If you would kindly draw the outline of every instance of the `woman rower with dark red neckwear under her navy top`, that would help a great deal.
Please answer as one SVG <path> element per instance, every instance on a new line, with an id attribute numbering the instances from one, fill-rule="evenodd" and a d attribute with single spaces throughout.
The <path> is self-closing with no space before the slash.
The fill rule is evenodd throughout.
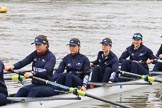
<path id="1" fill-rule="evenodd" d="M 32 62 L 32 71 L 26 72 L 24 76 L 26 78 L 36 76 L 51 81 L 56 58 L 48 49 L 49 43 L 47 36 L 37 36 L 32 44 L 35 44 L 35 51 L 14 65 L 5 66 L 5 70 L 20 69 Z M 54 89 L 55 88 L 51 85 L 46 85 L 44 82 L 32 79 L 32 84 L 20 88 L 15 97 L 53 96 L 56 93 Z"/>

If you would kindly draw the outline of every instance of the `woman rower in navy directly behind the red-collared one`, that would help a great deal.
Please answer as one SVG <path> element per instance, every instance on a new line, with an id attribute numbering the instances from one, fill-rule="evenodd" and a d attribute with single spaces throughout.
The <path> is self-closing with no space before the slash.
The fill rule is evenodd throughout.
<path id="1" fill-rule="evenodd" d="M 68 87 L 81 86 L 81 90 L 86 91 L 90 74 L 89 59 L 80 53 L 78 38 L 72 38 L 67 45 L 69 45 L 70 54 L 62 59 L 53 77 L 58 77 L 56 82 L 59 84 Z"/>

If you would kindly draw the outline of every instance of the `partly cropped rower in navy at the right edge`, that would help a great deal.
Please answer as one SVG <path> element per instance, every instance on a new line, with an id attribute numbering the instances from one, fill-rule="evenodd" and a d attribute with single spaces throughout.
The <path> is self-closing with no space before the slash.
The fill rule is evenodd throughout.
<path id="1" fill-rule="evenodd" d="M 161 36 L 161 38 L 162 38 L 162 36 Z M 162 44 L 161 44 L 159 50 L 157 51 L 156 57 L 159 58 L 159 59 L 162 59 Z M 157 60 L 155 65 L 154 65 L 153 71 L 162 71 L 162 62 L 159 62 Z"/>

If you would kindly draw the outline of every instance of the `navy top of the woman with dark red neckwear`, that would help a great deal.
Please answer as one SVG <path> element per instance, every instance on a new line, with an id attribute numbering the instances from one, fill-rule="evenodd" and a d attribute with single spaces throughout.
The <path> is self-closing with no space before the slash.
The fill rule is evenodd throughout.
<path id="1" fill-rule="evenodd" d="M 14 64 L 14 69 L 20 69 L 32 62 L 32 70 L 35 72 L 36 77 L 52 81 L 53 68 L 56 64 L 56 58 L 51 51 L 47 51 L 45 55 L 40 56 L 36 51 L 29 54 L 23 60 Z M 33 84 L 43 84 L 40 81 L 32 80 Z"/>

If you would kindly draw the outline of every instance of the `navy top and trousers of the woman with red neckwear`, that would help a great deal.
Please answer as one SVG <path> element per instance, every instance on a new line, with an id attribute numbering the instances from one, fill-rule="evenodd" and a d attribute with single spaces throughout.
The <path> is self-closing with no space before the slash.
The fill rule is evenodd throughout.
<path id="1" fill-rule="evenodd" d="M 52 81 L 53 68 L 56 58 L 49 50 L 44 55 L 38 55 L 36 51 L 32 52 L 25 59 L 14 64 L 14 69 L 20 69 L 32 62 L 34 76 Z M 54 87 L 46 85 L 44 82 L 32 79 L 32 84 L 19 89 L 16 97 L 46 97 L 55 95 Z"/>

